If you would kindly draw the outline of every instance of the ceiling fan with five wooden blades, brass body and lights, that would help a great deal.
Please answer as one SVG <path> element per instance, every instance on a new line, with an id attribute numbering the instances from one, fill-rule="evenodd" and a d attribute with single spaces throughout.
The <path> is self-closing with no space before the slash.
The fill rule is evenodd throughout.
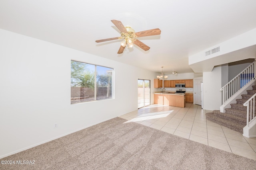
<path id="1" fill-rule="evenodd" d="M 96 40 L 96 43 L 104 42 L 104 41 L 111 41 L 115 39 L 123 39 L 121 42 L 121 46 L 118 50 L 118 54 L 123 53 L 124 48 L 128 45 L 128 48 L 133 47 L 133 44 L 138 45 L 138 47 L 142 48 L 143 50 L 147 51 L 150 49 L 146 44 L 142 43 L 140 40 L 136 39 L 137 37 L 146 37 L 150 35 L 160 35 L 161 30 L 159 28 L 150 29 L 147 31 L 140 31 L 136 32 L 130 26 L 124 27 L 121 21 L 118 20 L 111 20 L 114 25 L 121 31 L 121 37 L 114 37 L 108 39 L 100 39 Z"/>

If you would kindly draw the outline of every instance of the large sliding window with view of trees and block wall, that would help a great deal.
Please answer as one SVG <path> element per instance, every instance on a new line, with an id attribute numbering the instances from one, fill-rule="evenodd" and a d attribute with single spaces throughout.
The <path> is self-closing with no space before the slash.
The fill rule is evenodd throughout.
<path id="1" fill-rule="evenodd" d="M 113 68 L 71 61 L 71 104 L 112 99 Z"/>

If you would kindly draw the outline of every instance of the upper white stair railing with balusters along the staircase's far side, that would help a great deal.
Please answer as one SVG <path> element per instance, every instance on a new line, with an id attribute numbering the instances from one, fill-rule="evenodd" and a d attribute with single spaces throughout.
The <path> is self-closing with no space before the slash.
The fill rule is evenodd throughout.
<path id="1" fill-rule="evenodd" d="M 242 89 L 250 80 L 255 78 L 256 72 L 256 61 L 250 64 L 242 72 L 240 72 L 235 78 L 230 80 L 220 90 L 223 92 L 223 103 L 224 104 L 229 98 L 231 98 L 236 92 Z"/>

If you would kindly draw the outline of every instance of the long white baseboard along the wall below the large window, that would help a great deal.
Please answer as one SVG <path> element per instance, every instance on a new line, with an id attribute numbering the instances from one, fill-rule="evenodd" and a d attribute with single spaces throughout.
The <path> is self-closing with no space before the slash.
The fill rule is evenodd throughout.
<path id="1" fill-rule="evenodd" d="M 117 117 L 117 116 L 115 116 L 115 117 Z M 71 132 L 69 132 L 69 133 L 65 133 L 65 134 L 63 134 L 63 135 L 60 135 L 60 136 L 57 136 L 57 137 L 54 137 L 54 138 L 48 139 L 48 140 L 46 140 L 46 141 L 42 141 L 42 142 L 40 142 L 40 143 L 36 143 L 36 144 L 34 144 L 34 145 L 30 145 L 29 147 L 25 147 L 25 148 L 22 148 L 22 149 L 19 149 L 19 150 L 16 150 L 16 151 L 10 152 L 10 153 L 8 153 L 8 154 L 0 155 L 0 158 L 4 158 L 4 157 L 6 157 L 6 156 L 10 156 L 10 155 L 12 155 L 12 154 L 16 154 L 16 153 L 18 153 L 18 152 L 22 152 L 22 151 L 24 151 L 24 150 L 27 150 L 27 149 L 30 149 L 30 148 L 36 147 L 36 146 L 38 146 L 38 145 L 42 145 L 42 144 L 44 144 L 44 143 L 47 143 L 47 142 L 53 141 L 53 140 L 58 139 L 58 138 L 60 138 L 60 137 L 64 137 L 64 136 L 66 136 L 66 135 L 69 135 L 69 134 L 71 134 L 71 133 L 75 133 L 75 132 L 77 132 L 77 131 L 80 131 L 80 130 L 86 129 L 86 128 L 91 127 L 91 126 L 93 126 L 93 125 L 97 125 L 97 124 L 102 123 L 102 122 L 104 122 L 104 121 L 108 121 L 108 120 L 113 119 L 113 118 L 115 118 L 115 117 L 111 117 L 111 118 L 109 118 L 109 119 L 105 119 L 105 120 L 103 120 L 103 121 L 100 121 L 100 122 L 97 122 L 97 123 L 94 123 L 94 124 L 88 125 L 88 126 L 86 126 L 86 127 L 82 127 L 82 128 L 80 128 L 80 129 L 76 129 L 76 130 L 71 131 Z"/>

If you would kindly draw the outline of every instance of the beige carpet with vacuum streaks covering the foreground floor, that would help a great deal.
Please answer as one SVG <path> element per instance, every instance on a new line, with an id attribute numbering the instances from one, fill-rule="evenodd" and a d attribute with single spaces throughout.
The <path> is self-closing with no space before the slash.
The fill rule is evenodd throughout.
<path id="1" fill-rule="evenodd" d="M 4 170 L 252 170 L 256 161 L 116 117 L 1 160 Z"/>

